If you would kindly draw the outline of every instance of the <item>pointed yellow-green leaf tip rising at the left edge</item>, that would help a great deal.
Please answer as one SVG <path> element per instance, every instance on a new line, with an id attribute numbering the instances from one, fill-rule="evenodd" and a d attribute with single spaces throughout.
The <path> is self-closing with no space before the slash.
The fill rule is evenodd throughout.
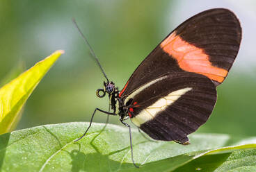
<path id="1" fill-rule="evenodd" d="M 54 52 L 0 88 L 0 134 L 14 128 L 27 98 L 63 52 Z"/>

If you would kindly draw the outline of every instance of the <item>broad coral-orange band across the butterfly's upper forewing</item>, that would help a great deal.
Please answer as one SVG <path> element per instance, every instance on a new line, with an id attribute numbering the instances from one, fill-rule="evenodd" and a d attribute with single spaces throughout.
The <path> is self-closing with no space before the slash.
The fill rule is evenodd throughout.
<path id="1" fill-rule="evenodd" d="M 179 67 L 185 71 L 202 74 L 219 83 L 222 83 L 227 76 L 227 70 L 211 65 L 209 56 L 203 49 L 182 40 L 179 35 L 176 35 L 176 32 L 163 40 L 160 46 L 163 51 L 172 55 L 177 60 Z"/>

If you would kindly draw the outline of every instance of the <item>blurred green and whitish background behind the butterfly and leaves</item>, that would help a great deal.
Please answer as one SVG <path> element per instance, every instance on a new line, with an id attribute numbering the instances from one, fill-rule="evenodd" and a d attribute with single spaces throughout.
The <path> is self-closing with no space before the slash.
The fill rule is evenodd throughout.
<path id="1" fill-rule="evenodd" d="M 223 7 L 239 17 L 243 40 L 227 80 L 218 87 L 214 112 L 197 132 L 255 135 L 255 6 L 253 0 L 1 0 L 1 85 L 56 49 L 65 50 L 29 98 L 17 129 L 89 121 L 95 107 L 108 108 L 107 98 L 95 95 L 104 77 L 90 58 L 72 17 L 106 74 L 122 89 L 146 55 L 177 25 L 202 10 Z M 106 115 L 95 115 L 95 122 L 105 120 Z M 111 117 L 111 123 L 119 123 L 118 117 Z"/>

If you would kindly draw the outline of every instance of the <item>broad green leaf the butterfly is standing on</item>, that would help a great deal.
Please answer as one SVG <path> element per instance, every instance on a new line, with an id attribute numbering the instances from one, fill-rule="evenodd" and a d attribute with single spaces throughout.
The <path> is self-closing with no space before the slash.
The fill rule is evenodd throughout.
<path id="1" fill-rule="evenodd" d="M 104 124 L 93 123 L 86 137 L 74 143 L 87 127 L 88 123 L 61 123 L 0 135 L 0 168 L 2 171 L 159 172 L 192 164 L 186 168 L 192 166 L 195 171 L 193 163 L 200 160 L 196 166 L 206 168 L 208 165 L 203 161 L 209 162 L 207 157 L 218 157 L 216 163 L 209 164 L 209 169 L 216 169 L 223 162 L 229 166 L 226 160 L 237 152 L 248 151 L 245 148 L 254 148 L 246 158 L 255 165 L 255 138 L 236 141 L 228 135 L 200 134 L 191 135 L 191 144 L 182 146 L 173 141 L 148 141 L 132 130 L 134 160 L 140 166 L 136 169 L 131 162 L 128 128 L 109 124 L 103 130 Z"/>

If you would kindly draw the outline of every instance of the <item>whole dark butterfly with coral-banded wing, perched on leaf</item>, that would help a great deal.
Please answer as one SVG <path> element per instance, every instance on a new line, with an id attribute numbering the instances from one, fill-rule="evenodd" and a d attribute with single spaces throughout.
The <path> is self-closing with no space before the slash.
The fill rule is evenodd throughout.
<path id="1" fill-rule="evenodd" d="M 147 55 L 121 91 L 106 77 L 90 48 L 106 78 L 97 96 L 109 94 L 113 110 L 95 112 L 118 115 L 130 133 L 125 119 L 152 139 L 189 144 L 187 135 L 202 126 L 214 109 L 216 87 L 232 67 L 240 42 L 241 26 L 233 12 L 223 8 L 200 12 Z"/>

